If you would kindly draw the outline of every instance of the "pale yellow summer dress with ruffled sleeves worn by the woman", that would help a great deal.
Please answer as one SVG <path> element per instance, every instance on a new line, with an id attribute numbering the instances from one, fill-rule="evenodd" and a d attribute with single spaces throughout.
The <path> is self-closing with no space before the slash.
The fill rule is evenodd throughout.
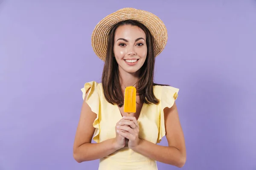
<path id="1" fill-rule="evenodd" d="M 97 118 L 93 122 L 95 133 L 93 140 L 97 143 L 115 138 L 116 122 L 122 119 L 117 105 L 107 102 L 103 94 L 102 83 L 87 82 L 81 89 L 83 99 L 88 92 L 86 102 Z M 143 104 L 138 118 L 139 138 L 157 144 L 165 136 L 163 109 L 171 108 L 177 99 L 179 89 L 170 86 L 154 86 L 154 95 L 160 100 L 158 105 Z M 157 170 L 155 160 L 149 159 L 128 147 L 100 159 L 99 170 Z"/>

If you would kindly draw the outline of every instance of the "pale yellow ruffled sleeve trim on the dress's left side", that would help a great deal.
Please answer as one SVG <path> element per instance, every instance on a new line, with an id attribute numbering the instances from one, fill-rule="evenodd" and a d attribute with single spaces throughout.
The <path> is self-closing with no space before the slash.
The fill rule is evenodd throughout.
<path id="1" fill-rule="evenodd" d="M 84 84 L 84 88 L 81 88 L 81 91 L 83 92 L 83 99 L 85 98 L 85 94 L 88 92 L 86 102 L 90 106 L 93 113 L 96 113 L 97 117 L 93 122 L 93 127 L 95 127 L 95 132 L 93 135 L 93 140 L 97 143 L 99 143 L 99 109 L 100 109 L 100 98 L 99 98 L 99 92 L 97 89 L 97 82 L 87 82 Z"/>

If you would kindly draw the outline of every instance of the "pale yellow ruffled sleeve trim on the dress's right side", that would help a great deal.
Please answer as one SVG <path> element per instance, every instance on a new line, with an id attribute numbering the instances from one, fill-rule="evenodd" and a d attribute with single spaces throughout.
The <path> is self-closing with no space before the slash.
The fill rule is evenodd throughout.
<path id="1" fill-rule="evenodd" d="M 163 86 L 162 95 L 161 95 L 161 104 L 160 104 L 161 113 L 160 113 L 160 125 L 159 125 L 157 143 L 160 143 L 163 136 L 166 135 L 163 110 L 166 107 L 171 108 L 174 105 L 174 102 L 178 97 L 178 92 L 179 92 L 178 88 L 174 88 L 171 86 Z"/>

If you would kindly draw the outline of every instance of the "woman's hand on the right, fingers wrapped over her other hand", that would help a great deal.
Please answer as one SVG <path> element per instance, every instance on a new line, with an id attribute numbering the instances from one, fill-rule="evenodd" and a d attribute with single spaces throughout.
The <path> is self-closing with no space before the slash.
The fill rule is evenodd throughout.
<path id="1" fill-rule="evenodd" d="M 124 116 L 123 119 L 124 120 L 120 122 L 120 126 L 117 128 L 120 130 L 125 130 L 125 132 L 118 131 L 117 133 L 129 139 L 128 147 L 133 149 L 140 143 L 139 124 L 134 116 Z"/>

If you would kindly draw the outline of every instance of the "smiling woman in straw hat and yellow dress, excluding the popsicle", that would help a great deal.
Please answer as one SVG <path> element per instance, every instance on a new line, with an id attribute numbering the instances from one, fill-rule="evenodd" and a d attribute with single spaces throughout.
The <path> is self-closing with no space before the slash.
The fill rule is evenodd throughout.
<path id="1" fill-rule="evenodd" d="M 178 89 L 153 82 L 155 57 L 166 41 L 163 22 L 134 8 L 120 9 L 95 27 L 93 50 L 105 65 L 102 82 L 88 82 L 81 89 L 76 161 L 100 159 L 99 170 L 157 170 L 156 161 L 183 167 L 186 148 L 175 104 Z M 123 111 L 127 86 L 137 88 L 137 111 L 131 116 Z M 169 146 L 158 145 L 165 135 Z"/>

